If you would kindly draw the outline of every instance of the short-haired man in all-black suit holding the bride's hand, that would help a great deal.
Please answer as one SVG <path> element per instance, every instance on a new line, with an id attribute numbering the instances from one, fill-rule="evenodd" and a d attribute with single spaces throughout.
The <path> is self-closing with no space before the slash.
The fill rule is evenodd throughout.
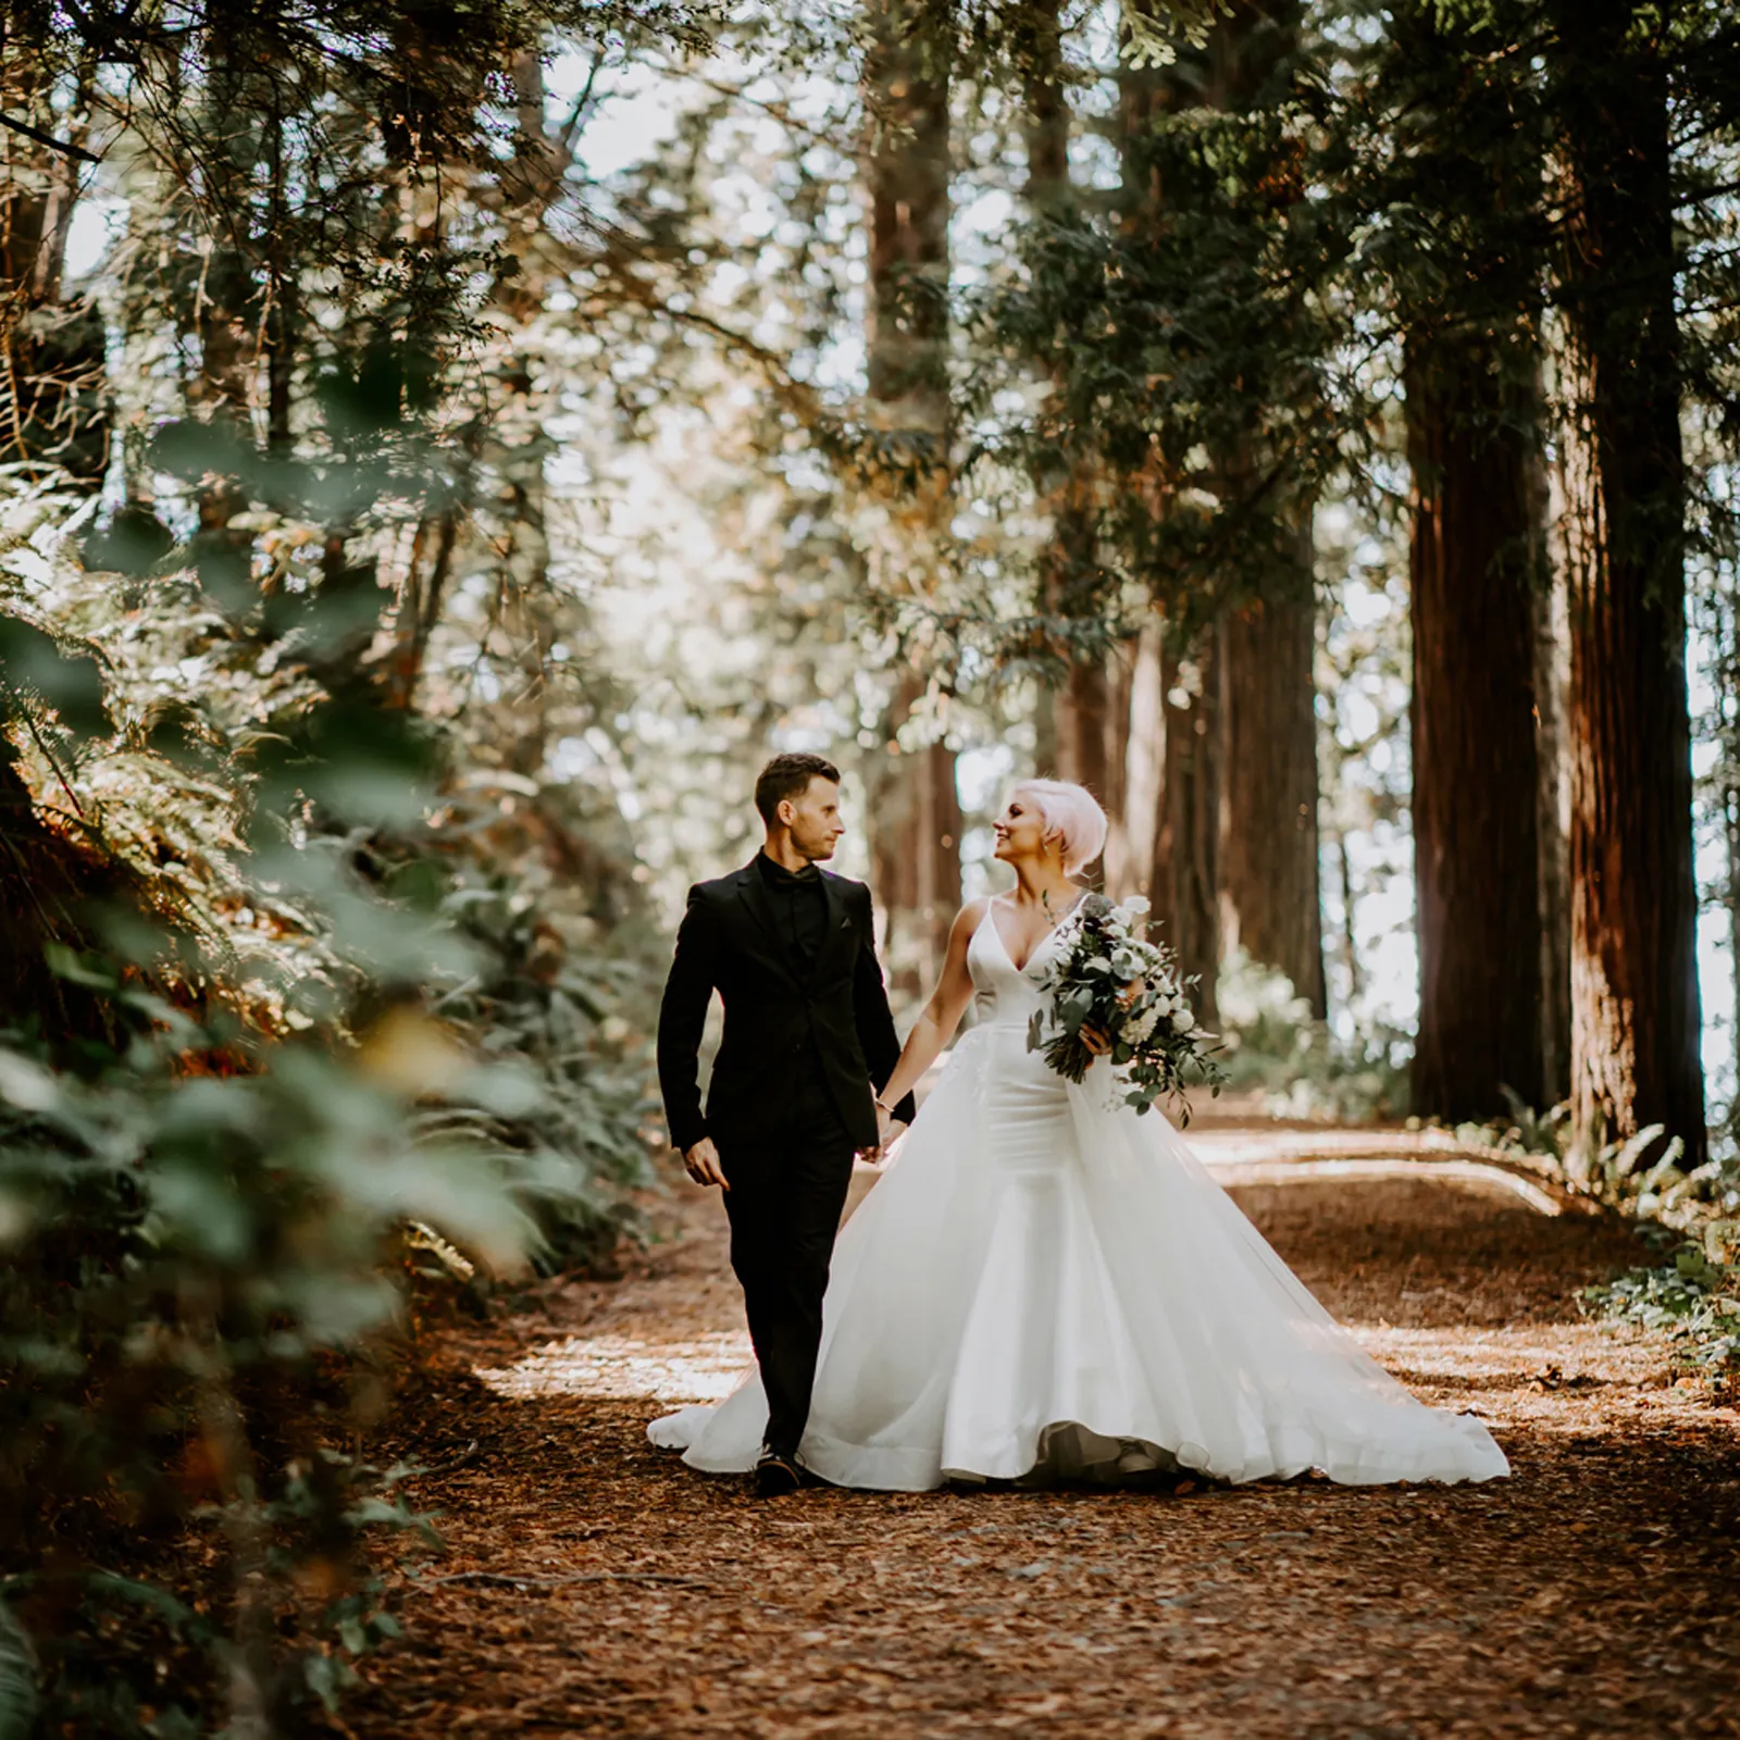
<path id="1" fill-rule="evenodd" d="M 900 1041 L 875 959 L 870 889 L 818 868 L 846 832 L 840 771 L 776 755 L 755 781 L 767 840 L 745 868 L 689 889 L 658 1018 L 670 1140 L 689 1176 L 719 1185 L 731 1267 L 767 1392 L 762 1496 L 802 1484 L 797 1446 L 821 1347 L 821 1296 L 853 1157 L 880 1148 Z M 701 1110 L 696 1079 L 713 992 L 726 1032 Z"/>

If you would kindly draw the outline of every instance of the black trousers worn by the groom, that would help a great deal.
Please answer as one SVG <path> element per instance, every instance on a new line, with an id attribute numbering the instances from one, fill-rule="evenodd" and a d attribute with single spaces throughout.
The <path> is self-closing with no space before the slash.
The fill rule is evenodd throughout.
<path id="1" fill-rule="evenodd" d="M 854 1145 L 820 1072 L 792 1105 L 783 1136 L 720 1150 L 731 1267 L 767 1392 L 767 1448 L 797 1455 L 821 1350 L 821 1296 L 853 1181 Z"/>

